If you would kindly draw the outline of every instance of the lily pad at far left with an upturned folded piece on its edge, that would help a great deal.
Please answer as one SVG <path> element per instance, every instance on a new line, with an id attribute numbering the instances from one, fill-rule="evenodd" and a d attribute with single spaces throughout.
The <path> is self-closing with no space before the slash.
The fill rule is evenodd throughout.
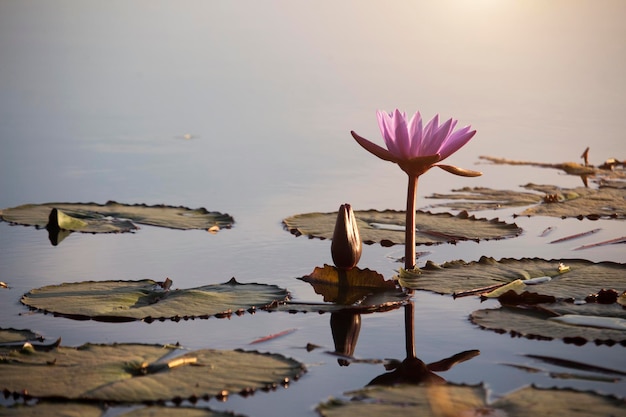
<path id="1" fill-rule="evenodd" d="M 54 211 L 54 213 L 53 213 Z M 57 213 L 59 213 L 57 215 Z M 171 229 L 230 228 L 234 219 L 228 214 L 165 205 L 96 203 L 24 204 L 0 210 L 0 219 L 25 226 L 45 228 L 51 222 L 62 230 L 84 233 L 119 233 L 137 229 L 137 224 Z M 217 227 L 217 229 L 216 229 Z"/>

